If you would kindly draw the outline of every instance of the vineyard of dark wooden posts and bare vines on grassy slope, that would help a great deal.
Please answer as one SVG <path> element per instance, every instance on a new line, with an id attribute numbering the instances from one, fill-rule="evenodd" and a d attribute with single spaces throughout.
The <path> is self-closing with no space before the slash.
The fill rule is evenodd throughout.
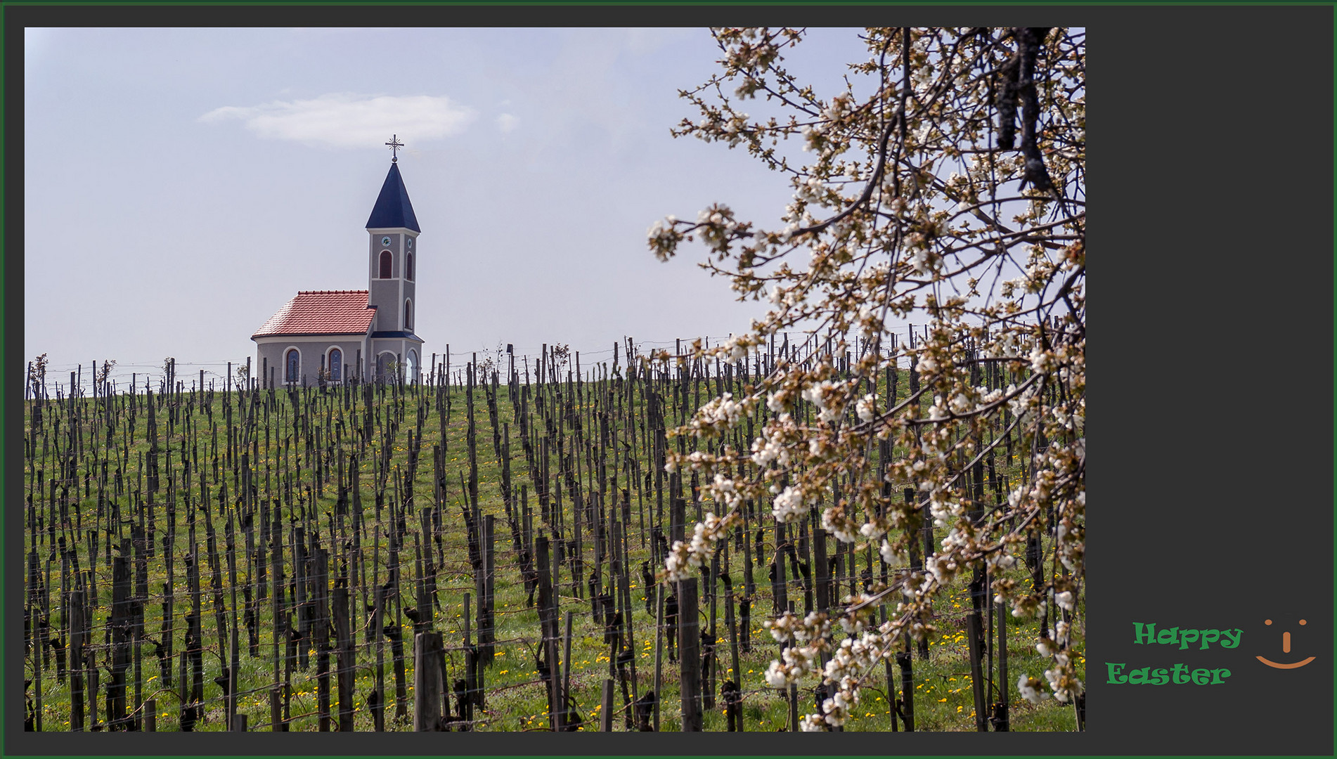
<path id="1" fill-rule="evenodd" d="M 664 461 L 698 445 L 747 450 L 771 413 L 723 438 L 674 434 L 707 401 L 814 361 L 850 377 L 876 350 L 828 346 L 779 335 L 726 362 L 685 346 L 651 359 L 626 341 L 592 366 L 562 346 L 463 367 L 447 354 L 421 385 L 263 386 L 233 370 L 206 382 L 170 362 L 130 388 L 83 369 L 56 385 L 29 365 L 27 727 L 797 730 L 829 694 L 818 679 L 767 684 L 786 645 L 769 620 L 921 572 L 947 530 L 927 494 L 885 478 L 884 494 L 925 513 L 905 565 L 822 529 L 824 504 L 785 522 L 749 500 L 713 560 L 670 583 L 670 547 L 725 509 Z M 931 404 L 913 363 L 894 366 L 864 392 Z M 1003 389 L 1025 366 L 976 355 L 969 371 Z M 816 410 L 798 400 L 793 413 Z M 1008 422 L 991 422 L 973 461 L 956 452 L 975 504 L 1004 505 L 1021 476 L 1029 444 Z M 884 469 L 904 456 L 885 440 L 866 454 Z M 825 497 L 864 485 L 837 480 Z M 1042 514 L 1032 526 L 1025 561 L 1005 572 L 1042 588 L 1067 569 L 1054 525 Z M 1032 703 L 1017 677 L 1044 667 L 1047 629 L 1066 623 L 1080 641 L 1082 599 L 1015 616 L 991 572 L 956 577 L 937 631 L 906 636 L 832 730 L 1080 730 L 1080 699 Z M 881 597 L 880 621 L 896 600 Z M 848 637 L 838 624 L 830 635 Z"/>

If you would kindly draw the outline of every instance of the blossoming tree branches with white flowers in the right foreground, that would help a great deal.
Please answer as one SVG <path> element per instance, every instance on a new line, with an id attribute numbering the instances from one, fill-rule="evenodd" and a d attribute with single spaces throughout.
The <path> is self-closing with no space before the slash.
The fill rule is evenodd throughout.
<path id="1" fill-rule="evenodd" d="M 820 335 L 828 350 L 781 361 L 742 397 L 711 400 L 675 432 L 694 450 L 670 453 L 666 468 L 707 477 L 723 513 L 674 543 L 663 577 L 709 565 L 749 500 L 769 502 L 778 524 L 810 516 L 840 541 L 876 548 L 890 568 L 885 583 L 865 584 L 838 613 L 771 621 L 787 647 L 769 684 L 818 677 L 828 688 L 821 710 L 804 718 L 806 730 L 842 724 L 877 664 L 935 633 L 935 599 L 957 576 L 980 592 L 988 577 L 993 603 L 1046 620 L 1036 649 L 1047 668 L 1020 673 L 1017 691 L 1032 702 L 1079 699 L 1084 33 L 868 29 L 866 55 L 829 94 L 786 68 L 804 31 L 714 36 L 722 68 L 682 92 L 699 118 L 674 134 L 746 150 L 789 182 L 793 200 L 778 229 L 741 220 L 722 203 L 695 220 L 667 216 L 651 226 L 650 249 L 666 261 L 685 242 L 703 243 L 705 269 L 731 278 L 739 298 L 769 303 L 749 333 L 698 342 L 695 355 L 737 359 L 792 330 Z M 927 325 L 923 341 L 893 337 L 906 323 Z M 837 371 L 856 339 L 872 349 Z M 897 401 L 878 378 L 902 358 L 919 382 Z M 1016 381 L 981 385 L 991 362 Z M 800 401 L 814 413 L 796 413 Z M 747 424 L 759 430 L 750 450 L 729 445 L 729 433 Z M 1020 452 L 1020 481 L 1001 502 L 985 502 L 963 474 L 1004 441 Z M 906 490 L 915 497 L 901 497 Z M 925 520 L 945 539 L 920 556 Z M 1031 559 L 1054 571 L 1025 587 L 1009 569 L 1042 540 L 1044 555 Z M 874 609 L 892 603 L 894 613 L 878 623 Z M 1064 619 L 1051 624 L 1054 607 Z M 846 633 L 838 643 L 836 623 Z"/>

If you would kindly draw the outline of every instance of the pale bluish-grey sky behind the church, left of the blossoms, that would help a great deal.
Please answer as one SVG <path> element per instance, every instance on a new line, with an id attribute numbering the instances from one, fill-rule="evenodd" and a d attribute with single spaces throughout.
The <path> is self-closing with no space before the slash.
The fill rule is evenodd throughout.
<path id="1" fill-rule="evenodd" d="M 743 331 L 646 229 L 726 202 L 762 226 L 790 187 L 721 143 L 674 139 L 679 88 L 718 57 L 706 29 L 28 29 L 27 358 L 214 375 L 298 290 L 366 287 L 364 224 L 390 166 L 422 227 L 424 358 L 499 342 L 607 358 Z M 820 95 L 854 31 L 796 51 Z M 603 353 L 600 353 L 603 351 Z M 586 361 L 583 359 L 583 363 Z M 185 367 L 190 369 L 185 369 Z M 66 377 L 68 377 L 66 374 Z"/>

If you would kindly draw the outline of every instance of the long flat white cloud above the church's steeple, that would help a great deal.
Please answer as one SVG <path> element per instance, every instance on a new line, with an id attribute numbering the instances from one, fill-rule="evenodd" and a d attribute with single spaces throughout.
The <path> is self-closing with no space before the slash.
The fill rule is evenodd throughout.
<path id="1" fill-rule="evenodd" d="M 404 142 L 444 138 L 464 131 L 475 111 L 441 95 L 394 98 L 332 92 L 312 100 L 275 100 L 262 106 L 223 106 L 201 122 L 241 119 L 266 139 L 297 140 L 326 147 L 366 147 L 386 134 Z"/>

